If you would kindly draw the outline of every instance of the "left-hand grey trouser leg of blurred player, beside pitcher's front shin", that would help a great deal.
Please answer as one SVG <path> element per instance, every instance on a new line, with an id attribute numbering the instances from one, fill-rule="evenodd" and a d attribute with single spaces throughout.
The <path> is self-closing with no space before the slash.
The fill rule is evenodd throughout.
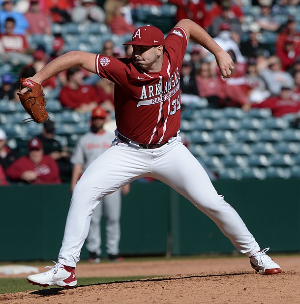
<path id="1" fill-rule="evenodd" d="M 90 219 L 90 230 L 86 240 L 86 247 L 90 252 L 95 252 L 97 256 L 101 254 L 101 216 L 103 210 L 103 197 L 96 206 Z"/>

